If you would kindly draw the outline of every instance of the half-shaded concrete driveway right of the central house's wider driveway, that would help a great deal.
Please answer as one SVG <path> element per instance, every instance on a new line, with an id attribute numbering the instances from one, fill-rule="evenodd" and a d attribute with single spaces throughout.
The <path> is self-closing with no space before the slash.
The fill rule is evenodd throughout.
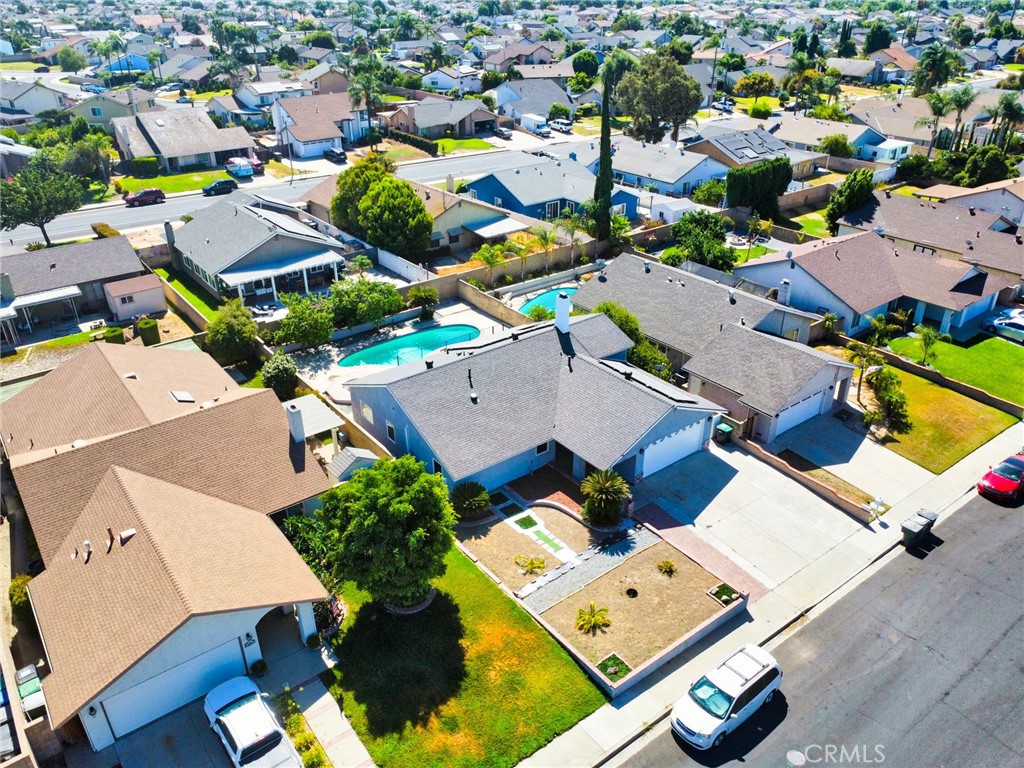
<path id="1" fill-rule="evenodd" d="M 935 477 L 830 415 L 791 429 L 768 446 L 774 454 L 786 447 L 890 506 Z"/>

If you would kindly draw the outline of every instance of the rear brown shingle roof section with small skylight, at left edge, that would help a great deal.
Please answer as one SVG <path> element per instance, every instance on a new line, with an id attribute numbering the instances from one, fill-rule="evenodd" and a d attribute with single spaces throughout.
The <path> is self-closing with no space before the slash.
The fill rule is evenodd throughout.
<path id="1" fill-rule="evenodd" d="M 135 378 L 126 378 L 134 374 Z M 178 402 L 183 390 L 195 402 Z M 0 409 L 0 440 L 14 463 L 42 450 L 67 449 L 196 411 L 214 397 L 243 394 L 207 354 L 90 344 Z"/>

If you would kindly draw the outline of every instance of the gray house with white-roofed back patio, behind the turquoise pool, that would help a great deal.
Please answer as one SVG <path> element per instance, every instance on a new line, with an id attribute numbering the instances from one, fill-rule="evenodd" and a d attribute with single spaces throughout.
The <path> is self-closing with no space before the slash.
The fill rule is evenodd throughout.
<path id="1" fill-rule="evenodd" d="M 344 274 L 346 258 L 364 250 L 321 234 L 299 213 L 232 193 L 169 232 L 172 259 L 212 295 L 249 303 L 327 288 Z"/>

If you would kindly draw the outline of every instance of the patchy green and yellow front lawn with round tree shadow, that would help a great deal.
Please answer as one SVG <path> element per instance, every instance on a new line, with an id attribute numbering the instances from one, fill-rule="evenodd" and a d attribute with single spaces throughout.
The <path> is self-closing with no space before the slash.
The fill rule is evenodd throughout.
<path id="1" fill-rule="evenodd" d="M 346 585 L 325 683 L 380 766 L 516 765 L 604 703 L 529 615 L 454 549 L 429 608 L 394 616 Z M 354 614 L 354 615 L 353 615 Z"/>

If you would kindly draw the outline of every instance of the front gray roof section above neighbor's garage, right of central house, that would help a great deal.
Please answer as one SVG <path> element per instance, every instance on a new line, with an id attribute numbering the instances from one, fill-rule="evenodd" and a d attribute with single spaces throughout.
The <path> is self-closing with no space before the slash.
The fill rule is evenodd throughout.
<path id="1" fill-rule="evenodd" d="M 825 367 L 853 366 L 830 354 L 741 326 L 726 326 L 683 368 L 774 416 Z"/>

